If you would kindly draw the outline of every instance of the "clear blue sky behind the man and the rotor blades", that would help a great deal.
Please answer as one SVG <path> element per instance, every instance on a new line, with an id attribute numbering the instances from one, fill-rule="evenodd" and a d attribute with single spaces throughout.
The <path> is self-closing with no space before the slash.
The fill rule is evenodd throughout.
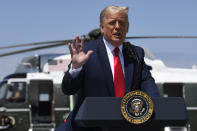
<path id="1" fill-rule="evenodd" d="M 0 46 L 72 39 L 99 27 L 100 11 L 128 6 L 128 36 L 197 35 L 196 0 L 1 0 Z M 132 40 L 169 66 L 197 64 L 197 39 Z M 21 49 L 21 48 L 19 48 Z M 0 50 L 5 53 L 12 50 Z M 0 58 L 0 79 L 14 72 L 24 56 L 65 52 L 64 47 Z M 180 56 L 182 55 L 182 56 Z"/>

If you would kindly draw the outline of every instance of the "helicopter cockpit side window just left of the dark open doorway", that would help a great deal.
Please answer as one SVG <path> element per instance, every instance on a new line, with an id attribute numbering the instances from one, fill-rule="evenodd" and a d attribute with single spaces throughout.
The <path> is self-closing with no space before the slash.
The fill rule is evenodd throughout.
<path id="1" fill-rule="evenodd" d="M 6 100 L 8 102 L 25 102 L 25 96 L 25 82 L 13 82 L 8 85 L 8 92 L 6 94 Z"/>

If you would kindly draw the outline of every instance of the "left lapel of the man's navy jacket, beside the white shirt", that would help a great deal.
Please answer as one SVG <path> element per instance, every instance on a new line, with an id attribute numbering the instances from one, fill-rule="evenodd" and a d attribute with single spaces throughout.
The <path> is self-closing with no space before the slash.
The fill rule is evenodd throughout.
<path id="1" fill-rule="evenodd" d="M 97 46 L 97 54 L 99 61 L 101 63 L 101 68 L 103 70 L 103 77 L 105 77 L 105 82 L 107 84 L 107 88 L 109 90 L 110 96 L 114 96 L 114 82 L 113 82 L 113 76 L 112 71 L 109 63 L 109 58 L 107 55 L 107 50 L 104 45 L 104 42 L 102 40 L 102 37 L 100 39 L 100 42 Z"/>

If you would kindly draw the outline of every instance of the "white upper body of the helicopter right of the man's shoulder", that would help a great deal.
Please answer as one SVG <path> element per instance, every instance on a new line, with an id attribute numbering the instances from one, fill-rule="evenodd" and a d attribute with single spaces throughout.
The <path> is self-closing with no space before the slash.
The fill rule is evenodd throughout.
<path id="1" fill-rule="evenodd" d="M 156 83 L 197 83 L 197 69 L 170 68 L 161 60 L 145 58 Z"/>

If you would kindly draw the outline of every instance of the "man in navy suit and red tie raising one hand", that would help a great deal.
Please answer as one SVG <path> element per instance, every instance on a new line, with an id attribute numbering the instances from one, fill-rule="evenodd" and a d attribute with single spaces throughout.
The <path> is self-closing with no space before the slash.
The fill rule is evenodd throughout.
<path id="1" fill-rule="evenodd" d="M 109 6 L 100 14 L 101 37 L 84 44 L 84 37 L 79 42 L 77 36 L 69 44 L 72 62 L 62 90 L 67 95 L 77 93 L 77 99 L 64 125 L 66 131 L 82 130 L 73 120 L 85 97 L 123 97 L 135 89 L 159 96 L 143 49 L 124 42 L 128 29 L 128 7 Z"/>

